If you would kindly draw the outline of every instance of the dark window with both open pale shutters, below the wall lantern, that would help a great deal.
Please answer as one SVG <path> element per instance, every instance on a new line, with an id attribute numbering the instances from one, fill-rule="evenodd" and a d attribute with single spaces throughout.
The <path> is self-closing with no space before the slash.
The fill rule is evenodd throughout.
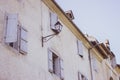
<path id="1" fill-rule="evenodd" d="M 54 52 L 48 50 L 48 68 L 49 72 L 56 74 L 61 79 L 64 79 L 63 75 L 63 60 L 60 59 Z"/>

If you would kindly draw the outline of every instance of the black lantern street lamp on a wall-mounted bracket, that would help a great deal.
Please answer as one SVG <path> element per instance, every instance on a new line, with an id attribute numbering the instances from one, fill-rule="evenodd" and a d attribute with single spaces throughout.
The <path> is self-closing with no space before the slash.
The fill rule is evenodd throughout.
<path id="1" fill-rule="evenodd" d="M 63 27 L 62 24 L 59 21 L 57 21 L 54 27 L 52 28 L 52 30 L 54 31 L 54 34 L 50 34 L 44 37 L 42 36 L 42 47 L 44 42 L 47 42 L 48 40 L 53 38 L 55 35 L 59 34 L 62 30 L 62 27 Z"/>

